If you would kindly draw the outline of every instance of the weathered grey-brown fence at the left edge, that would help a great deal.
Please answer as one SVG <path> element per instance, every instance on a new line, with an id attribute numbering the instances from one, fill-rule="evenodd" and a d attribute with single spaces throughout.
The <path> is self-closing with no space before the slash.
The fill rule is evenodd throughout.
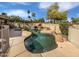
<path id="1" fill-rule="evenodd" d="M 9 48 L 9 26 L 3 25 L 0 29 L 0 52 L 5 52 Z"/>

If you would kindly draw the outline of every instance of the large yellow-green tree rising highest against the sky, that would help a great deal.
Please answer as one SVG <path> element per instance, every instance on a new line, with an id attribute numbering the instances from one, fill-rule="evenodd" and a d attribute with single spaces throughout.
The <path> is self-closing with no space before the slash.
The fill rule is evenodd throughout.
<path id="1" fill-rule="evenodd" d="M 60 12 L 58 9 L 59 9 L 59 6 L 57 3 L 55 3 L 54 5 L 51 5 L 48 8 L 47 17 L 51 21 L 53 20 L 54 23 L 59 20 L 66 20 L 67 19 L 67 11 Z"/>

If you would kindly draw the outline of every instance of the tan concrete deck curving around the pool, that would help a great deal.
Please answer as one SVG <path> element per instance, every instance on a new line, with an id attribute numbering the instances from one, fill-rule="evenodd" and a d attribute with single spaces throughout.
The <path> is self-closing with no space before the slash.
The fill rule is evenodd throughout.
<path id="1" fill-rule="evenodd" d="M 66 57 L 79 56 L 79 48 L 70 42 L 57 42 L 58 47 L 49 52 L 33 54 L 25 49 L 24 39 L 31 35 L 28 31 L 23 31 L 22 36 L 10 38 L 10 49 L 8 57 Z"/>

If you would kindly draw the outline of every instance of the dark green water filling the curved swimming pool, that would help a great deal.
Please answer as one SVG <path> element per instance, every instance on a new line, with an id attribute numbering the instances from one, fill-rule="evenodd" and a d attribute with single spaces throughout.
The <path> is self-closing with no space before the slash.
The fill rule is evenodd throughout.
<path id="1" fill-rule="evenodd" d="M 33 53 L 47 52 L 57 47 L 55 37 L 51 34 L 40 33 L 40 30 L 31 30 L 32 35 L 25 39 L 25 47 Z"/>

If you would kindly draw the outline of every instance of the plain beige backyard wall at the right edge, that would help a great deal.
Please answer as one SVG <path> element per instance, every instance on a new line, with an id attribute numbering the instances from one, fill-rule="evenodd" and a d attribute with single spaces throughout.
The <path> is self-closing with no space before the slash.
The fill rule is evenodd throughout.
<path id="1" fill-rule="evenodd" d="M 78 27 L 69 27 L 69 36 L 68 40 L 79 47 L 79 28 Z"/>

